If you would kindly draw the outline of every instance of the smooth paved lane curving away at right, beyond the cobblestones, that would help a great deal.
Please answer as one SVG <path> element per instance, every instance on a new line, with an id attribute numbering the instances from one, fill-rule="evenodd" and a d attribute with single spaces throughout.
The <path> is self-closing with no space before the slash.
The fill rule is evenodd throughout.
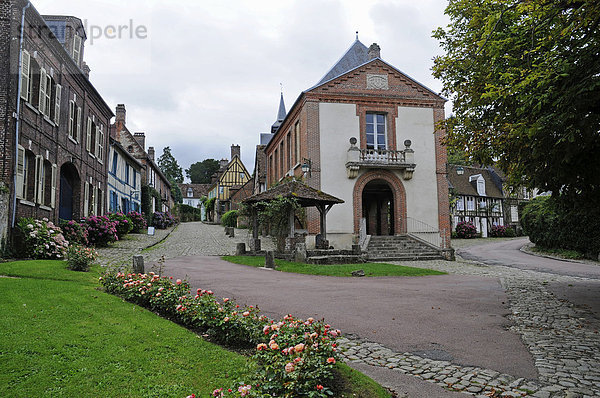
<path id="1" fill-rule="evenodd" d="M 464 259 L 489 265 L 504 265 L 554 275 L 600 279 L 599 265 L 533 256 L 519 250 L 528 243 L 529 238 L 521 238 L 465 247 L 459 249 L 457 253 Z"/>

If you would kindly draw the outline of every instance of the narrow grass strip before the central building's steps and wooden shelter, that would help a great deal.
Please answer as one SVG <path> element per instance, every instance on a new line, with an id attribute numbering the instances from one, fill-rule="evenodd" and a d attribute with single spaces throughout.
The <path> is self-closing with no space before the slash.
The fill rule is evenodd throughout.
<path id="1" fill-rule="evenodd" d="M 252 267 L 265 266 L 265 258 L 261 256 L 223 256 L 222 259 L 231 263 L 250 265 Z M 445 274 L 445 272 L 425 268 L 383 263 L 315 265 L 276 259 L 275 266 L 278 271 L 283 272 L 326 276 L 352 276 L 352 271 L 359 269 L 365 271 L 365 276 L 425 276 Z"/>

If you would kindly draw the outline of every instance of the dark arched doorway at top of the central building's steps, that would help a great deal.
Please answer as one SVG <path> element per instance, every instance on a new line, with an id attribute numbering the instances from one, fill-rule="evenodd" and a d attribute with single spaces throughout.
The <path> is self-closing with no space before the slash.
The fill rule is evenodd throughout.
<path id="1" fill-rule="evenodd" d="M 386 181 L 373 180 L 365 185 L 362 206 L 368 235 L 394 235 L 394 193 Z"/>

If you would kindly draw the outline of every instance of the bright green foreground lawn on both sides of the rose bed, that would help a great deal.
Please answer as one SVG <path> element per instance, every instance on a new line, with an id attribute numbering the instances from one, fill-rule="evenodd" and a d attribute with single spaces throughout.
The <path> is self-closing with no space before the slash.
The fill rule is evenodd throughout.
<path id="1" fill-rule="evenodd" d="M 1 397 L 208 396 L 247 375 L 246 357 L 98 290 L 98 274 L 62 261 L 0 264 L 15 277 L 0 277 Z M 390 396 L 339 369 L 340 396 Z"/>

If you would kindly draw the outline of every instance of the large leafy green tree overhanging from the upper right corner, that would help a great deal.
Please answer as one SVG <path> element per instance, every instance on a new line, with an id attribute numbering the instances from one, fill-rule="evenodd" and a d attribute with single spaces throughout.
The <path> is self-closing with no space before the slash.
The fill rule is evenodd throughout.
<path id="1" fill-rule="evenodd" d="M 512 185 L 600 196 L 600 2 L 454 0 L 434 32 L 447 143 Z"/>

